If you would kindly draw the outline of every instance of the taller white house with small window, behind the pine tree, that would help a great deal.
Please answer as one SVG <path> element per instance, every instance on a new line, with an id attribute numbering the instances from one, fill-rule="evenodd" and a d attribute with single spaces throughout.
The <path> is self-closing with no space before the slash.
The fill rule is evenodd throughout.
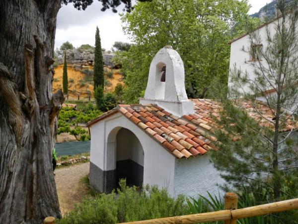
<path id="1" fill-rule="evenodd" d="M 272 66 L 271 68 L 269 68 L 268 63 L 262 57 L 262 54 L 258 53 L 258 51 L 259 50 L 263 52 L 267 51 L 268 34 L 271 38 L 275 38 L 274 35 L 276 34 L 278 24 L 281 24 L 282 22 L 281 20 L 282 20 L 282 17 L 277 16 L 276 18 L 256 28 L 252 32 L 252 37 L 248 33 L 246 33 L 229 42 L 230 43 L 230 62 L 229 62 L 230 74 L 228 79 L 229 87 L 232 87 L 234 85 L 234 83 L 231 81 L 231 73 L 232 71 L 234 71 L 234 68 L 240 69 L 242 72 L 246 72 L 250 80 L 254 80 L 256 78 L 255 71 L 254 71 L 256 66 L 258 68 L 260 67 L 265 68 L 264 69 L 265 73 L 266 73 L 266 69 L 269 69 L 269 70 L 272 69 Z M 286 25 L 289 26 L 289 24 L 290 24 L 290 19 L 287 16 Z M 298 24 L 296 24 L 296 29 L 298 30 Z M 259 69 L 257 70 L 260 71 Z M 269 83 L 267 82 L 267 86 L 263 88 L 262 94 L 264 96 L 263 97 L 257 96 L 258 100 L 261 100 L 267 103 L 266 98 L 268 99 L 269 96 L 275 96 L 275 90 L 273 87 L 275 88 L 277 87 L 273 78 L 270 80 L 270 83 L 271 84 L 269 85 Z M 242 93 L 251 92 L 248 84 L 246 85 L 242 84 L 241 87 L 237 86 L 237 89 Z M 296 99 L 297 100 L 295 101 L 298 102 L 298 97 L 296 97 Z M 297 111 L 297 106 L 298 104 L 296 103 L 295 105 L 292 105 L 291 107 L 286 109 L 288 109 L 291 112 L 295 112 Z"/>

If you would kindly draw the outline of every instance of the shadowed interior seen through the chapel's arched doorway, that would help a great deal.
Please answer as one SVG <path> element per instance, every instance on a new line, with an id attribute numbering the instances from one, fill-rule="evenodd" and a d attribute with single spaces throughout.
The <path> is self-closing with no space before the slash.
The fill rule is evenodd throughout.
<path id="1" fill-rule="evenodd" d="M 129 129 L 120 128 L 116 135 L 115 185 L 126 179 L 128 186 L 141 187 L 144 179 L 144 150 L 138 137 Z"/>

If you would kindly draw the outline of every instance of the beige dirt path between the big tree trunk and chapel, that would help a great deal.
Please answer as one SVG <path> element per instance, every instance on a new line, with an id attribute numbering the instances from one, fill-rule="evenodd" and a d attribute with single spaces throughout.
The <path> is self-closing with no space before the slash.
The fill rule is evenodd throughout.
<path id="1" fill-rule="evenodd" d="M 89 174 L 89 162 L 56 169 L 55 174 L 60 209 L 64 215 L 88 193 L 88 188 L 80 179 Z"/>

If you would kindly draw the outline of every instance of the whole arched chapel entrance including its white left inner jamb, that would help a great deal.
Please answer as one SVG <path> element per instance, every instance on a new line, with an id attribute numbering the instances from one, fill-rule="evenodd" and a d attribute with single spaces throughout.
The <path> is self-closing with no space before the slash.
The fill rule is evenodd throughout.
<path id="1" fill-rule="evenodd" d="M 107 137 L 105 155 L 106 169 L 114 170 L 114 174 L 106 180 L 108 186 L 112 189 L 118 187 L 119 179 L 122 178 L 126 178 L 129 186 L 142 186 L 144 149 L 131 130 L 120 126 L 113 128 Z"/>

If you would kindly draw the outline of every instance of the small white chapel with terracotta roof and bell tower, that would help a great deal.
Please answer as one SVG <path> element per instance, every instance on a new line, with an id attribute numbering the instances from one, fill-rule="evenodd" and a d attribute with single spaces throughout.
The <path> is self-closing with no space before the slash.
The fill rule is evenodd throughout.
<path id="1" fill-rule="evenodd" d="M 89 122 L 90 185 L 111 192 L 126 178 L 129 185 L 166 188 L 173 197 L 218 195 L 224 180 L 209 151 L 217 140 L 212 117 L 221 108 L 211 100 L 187 99 L 183 62 L 171 47 L 162 48 L 151 62 L 140 104 L 119 105 Z M 257 119 L 257 112 L 250 114 Z"/>

